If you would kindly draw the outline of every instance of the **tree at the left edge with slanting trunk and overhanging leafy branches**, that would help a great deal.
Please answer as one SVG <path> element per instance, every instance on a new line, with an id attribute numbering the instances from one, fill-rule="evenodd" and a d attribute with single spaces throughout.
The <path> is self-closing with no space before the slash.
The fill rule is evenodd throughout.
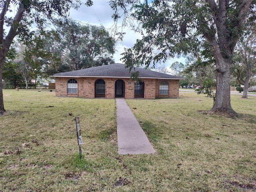
<path id="1" fill-rule="evenodd" d="M 13 3 L 13 6 L 10 6 Z M 86 5 L 91 6 L 92 1 L 87 0 Z M 70 8 L 77 9 L 80 6 L 78 0 L 2 0 L 0 2 L 0 114 L 5 112 L 3 91 L 2 91 L 2 74 L 6 55 L 15 36 L 28 38 L 29 29 L 32 24 L 44 28 L 45 24 L 50 21 L 54 22 L 55 18 L 66 17 Z M 16 9 L 16 10 L 12 10 Z M 7 12 L 15 13 L 14 17 L 6 16 Z M 4 27 L 9 27 L 6 33 Z"/>

